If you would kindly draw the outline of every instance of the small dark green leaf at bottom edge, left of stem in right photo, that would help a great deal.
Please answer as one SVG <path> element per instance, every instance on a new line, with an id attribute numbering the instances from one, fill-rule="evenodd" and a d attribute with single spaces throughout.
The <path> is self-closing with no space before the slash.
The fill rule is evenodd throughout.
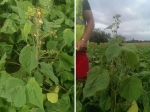
<path id="1" fill-rule="evenodd" d="M 105 94 L 100 98 L 100 108 L 103 111 L 107 111 L 110 109 L 110 107 L 111 107 L 111 98 Z"/>

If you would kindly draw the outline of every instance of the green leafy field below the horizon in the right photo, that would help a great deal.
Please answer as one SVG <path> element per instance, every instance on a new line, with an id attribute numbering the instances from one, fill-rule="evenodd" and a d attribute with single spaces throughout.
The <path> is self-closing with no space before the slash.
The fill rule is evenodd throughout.
<path id="1" fill-rule="evenodd" d="M 90 71 L 77 86 L 77 112 L 150 112 L 150 43 L 120 44 L 88 45 Z"/>

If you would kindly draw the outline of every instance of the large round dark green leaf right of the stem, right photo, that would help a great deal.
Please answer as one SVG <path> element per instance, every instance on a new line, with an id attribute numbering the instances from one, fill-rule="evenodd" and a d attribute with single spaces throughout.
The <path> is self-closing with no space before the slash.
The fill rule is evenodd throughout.
<path id="1" fill-rule="evenodd" d="M 128 101 L 138 99 L 142 92 L 142 82 L 136 77 L 126 78 L 120 83 L 119 94 Z"/>

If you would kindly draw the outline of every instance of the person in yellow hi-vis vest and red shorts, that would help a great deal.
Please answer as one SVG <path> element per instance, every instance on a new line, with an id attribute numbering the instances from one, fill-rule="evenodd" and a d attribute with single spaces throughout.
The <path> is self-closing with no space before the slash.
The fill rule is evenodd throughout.
<path id="1" fill-rule="evenodd" d="M 76 78 L 84 82 L 89 70 L 87 42 L 94 29 L 94 18 L 87 0 L 76 0 Z"/>

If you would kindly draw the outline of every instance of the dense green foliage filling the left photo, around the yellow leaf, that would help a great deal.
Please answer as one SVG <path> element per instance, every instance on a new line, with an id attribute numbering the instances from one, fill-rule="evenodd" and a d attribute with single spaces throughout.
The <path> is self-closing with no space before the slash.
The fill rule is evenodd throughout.
<path id="1" fill-rule="evenodd" d="M 2 0 L 0 6 L 0 110 L 73 112 L 74 2 Z M 46 95 L 55 87 L 58 101 L 51 103 Z"/>

